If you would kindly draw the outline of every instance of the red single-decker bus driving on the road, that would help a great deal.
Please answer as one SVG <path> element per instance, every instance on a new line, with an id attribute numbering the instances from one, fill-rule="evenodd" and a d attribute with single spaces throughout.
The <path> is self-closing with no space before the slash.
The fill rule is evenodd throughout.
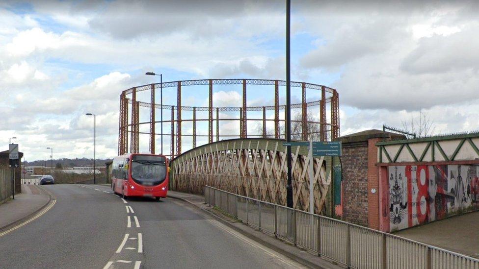
<path id="1" fill-rule="evenodd" d="M 168 161 L 163 155 L 130 153 L 113 158 L 111 189 L 123 198 L 152 197 L 157 201 L 168 190 Z"/>

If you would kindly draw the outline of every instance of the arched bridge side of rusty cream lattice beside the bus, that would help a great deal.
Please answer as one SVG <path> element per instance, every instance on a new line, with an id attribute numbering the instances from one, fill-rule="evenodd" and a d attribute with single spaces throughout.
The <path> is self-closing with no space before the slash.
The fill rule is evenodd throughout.
<path id="1" fill-rule="evenodd" d="M 230 139 L 193 148 L 171 162 L 170 189 L 203 194 L 204 186 L 242 196 L 286 205 L 286 147 L 282 139 Z M 292 147 L 293 207 L 309 211 L 309 186 L 313 181 L 314 212 L 330 213 L 333 161 L 338 157 L 313 159 L 309 177 L 308 147 Z M 325 208 L 329 207 L 329 208 Z"/>

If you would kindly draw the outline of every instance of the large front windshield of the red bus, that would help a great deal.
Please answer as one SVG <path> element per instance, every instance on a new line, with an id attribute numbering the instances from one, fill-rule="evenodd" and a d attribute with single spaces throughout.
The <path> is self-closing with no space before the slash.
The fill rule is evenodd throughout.
<path id="1" fill-rule="evenodd" d="M 132 160 L 132 178 L 141 185 L 158 185 L 166 178 L 166 162 L 162 156 L 135 155 Z"/>

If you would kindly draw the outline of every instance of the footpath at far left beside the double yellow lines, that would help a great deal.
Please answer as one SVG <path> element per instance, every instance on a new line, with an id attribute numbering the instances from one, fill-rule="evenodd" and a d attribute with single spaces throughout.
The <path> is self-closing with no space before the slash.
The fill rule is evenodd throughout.
<path id="1" fill-rule="evenodd" d="M 40 212 L 52 197 L 40 186 L 22 184 L 22 193 L 0 204 L 0 234 Z"/>

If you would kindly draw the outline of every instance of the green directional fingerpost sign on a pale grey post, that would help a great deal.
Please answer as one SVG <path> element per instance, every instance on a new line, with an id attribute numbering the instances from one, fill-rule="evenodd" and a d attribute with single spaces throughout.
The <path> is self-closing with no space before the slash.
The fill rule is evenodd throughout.
<path id="1" fill-rule="evenodd" d="M 341 156 L 341 142 L 285 142 L 284 147 L 308 147 L 308 159 L 309 159 L 309 212 L 314 214 L 314 162 L 313 157 L 321 156 Z"/>

